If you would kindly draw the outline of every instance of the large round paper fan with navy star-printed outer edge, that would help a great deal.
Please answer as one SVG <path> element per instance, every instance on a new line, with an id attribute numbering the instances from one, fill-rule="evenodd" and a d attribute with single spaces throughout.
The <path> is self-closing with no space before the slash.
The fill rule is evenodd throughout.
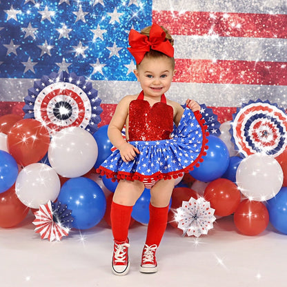
<path id="1" fill-rule="evenodd" d="M 40 81 L 34 81 L 34 86 L 28 89 L 24 119 L 42 122 L 50 135 L 70 126 L 79 126 L 93 134 L 103 111 L 97 93 L 83 76 L 52 72 Z"/>

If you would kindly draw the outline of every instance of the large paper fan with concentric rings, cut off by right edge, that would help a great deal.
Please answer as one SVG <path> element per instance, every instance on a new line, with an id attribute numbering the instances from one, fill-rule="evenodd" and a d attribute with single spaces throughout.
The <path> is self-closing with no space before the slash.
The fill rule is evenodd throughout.
<path id="1" fill-rule="evenodd" d="M 276 103 L 243 103 L 232 118 L 231 140 L 243 157 L 257 152 L 277 157 L 286 149 L 287 115 Z"/>

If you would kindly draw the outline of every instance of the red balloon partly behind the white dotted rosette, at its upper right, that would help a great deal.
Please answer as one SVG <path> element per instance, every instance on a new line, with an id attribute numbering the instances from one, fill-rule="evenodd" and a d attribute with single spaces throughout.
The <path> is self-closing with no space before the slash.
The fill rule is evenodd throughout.
<path id="1" fill-rule="evenodd" d="M 228 216 L 239 206 L 241 193 L 229 179 L 215 179 L 206 186 L 204 198 L 215 209 L 215 215 Z"/>

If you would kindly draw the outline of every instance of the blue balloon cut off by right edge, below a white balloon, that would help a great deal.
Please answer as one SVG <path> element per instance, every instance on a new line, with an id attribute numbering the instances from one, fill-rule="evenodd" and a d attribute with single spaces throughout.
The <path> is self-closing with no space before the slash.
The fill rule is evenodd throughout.
<path id="1" fill-rule="evenodd" d="M 287 187 L 267 201 L 270 223 L 281 233 L 287 234 Z"/>

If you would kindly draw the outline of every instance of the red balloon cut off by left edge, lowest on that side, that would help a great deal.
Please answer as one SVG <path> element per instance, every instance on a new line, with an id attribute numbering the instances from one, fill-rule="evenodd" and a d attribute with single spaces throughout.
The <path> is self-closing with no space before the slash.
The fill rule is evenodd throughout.
<path id="1" fill-rule="evenodd" d="M 0 193 L 0 227 L 17 226 L 28 214 L 30 208 L 21 203 L 15 193 L 15 185 Z"/>

